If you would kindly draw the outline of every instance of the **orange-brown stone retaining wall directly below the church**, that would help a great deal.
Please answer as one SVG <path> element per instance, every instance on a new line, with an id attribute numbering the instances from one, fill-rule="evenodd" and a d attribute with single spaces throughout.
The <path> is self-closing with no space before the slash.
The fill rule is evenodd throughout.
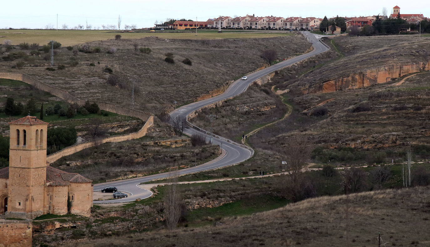
<path id="1" fill-rule="evenodd" d="M 0 247 L 31 247 L 30 220 L 0 220 Z"/>

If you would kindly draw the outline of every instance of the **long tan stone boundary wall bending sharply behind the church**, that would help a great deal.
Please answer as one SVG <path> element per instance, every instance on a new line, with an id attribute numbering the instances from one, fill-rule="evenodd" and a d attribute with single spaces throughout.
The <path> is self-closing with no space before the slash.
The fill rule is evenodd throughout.
<path id="1" fill-rule="evenodd" d="M 12 79 L 12 80 L 17 80 L 17 81 L 24 81 L 25 83 L 28 83 L 28 84 L 34 86 L 35 88 L 37 88 L 39 90 L 43 90 L 43 91 L 46 91 L 48 93 L 51 93 L 52 95 L 55 95 L 60 99 L 64 99 L 65 101 L 67 101 L 69 103 L 77 103 L 78 105 L 85 104 L 85 100 L 77 99 L 75 96 L 71 95 L 70 93 L 68 93 L 65 90 L 61 90 L 61 89 L 52 87 L 46 83 L 38 81 L 38 80 L 32 78 L 31 76 L 28 76 L 25 74 L 11 73 L 11 72 L 0 72 L 0 78 Z M 79 152 L 85 148 L 94 147 L 96 145 L 100 145 L 100 144 L 105 143 L 105 142 L 123 142 L 123 141 L 131 140 L 131 139 L 141 138 L 142 136 L 146 135 L 148 128 L 154 124 L 154 115 L 153 114 L 149 114 L 149 113 L 146 113 L 144 111 L 133 110 L 130 108 L 114 105 L 114 104 L 107 103 L 107 102 L 98 102 L 98 101 L 95 101 L 95 102 L 97 102 L 97 104 L 101 110 L 110 111 L 110 112 L 114 112 L 114 113 L 122 114 L 122 115 L 128 115 L 131 117 L 137 117 L 137 118 L 145 121 L 145 124 L 138 132 L 135 132 L 135 133 L 124 134 L 124 135 L 119 135 L 119 136 L 111 136 L 111 137 L 107 137 L 105 139 L 100 139 L 100 140 L 96 140 L 96 141 L 92 141 L 92 142 L 86 142 L 83 144 L 73 145 L 73 146 L 70 146 L 68 148 L 64 148 L 64 149 L 62 149 L 62 150 L 60 150 L 54 154 L 48 155 L 48 157 L 46 157 L 46 161 L 48 163 L 52 163 L 61 157 L 74 154 L 74 153 Z"/>

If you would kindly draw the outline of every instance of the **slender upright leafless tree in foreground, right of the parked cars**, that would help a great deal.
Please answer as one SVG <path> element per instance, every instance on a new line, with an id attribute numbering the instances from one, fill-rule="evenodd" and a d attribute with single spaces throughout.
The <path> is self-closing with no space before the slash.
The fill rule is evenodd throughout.
<path id="1" fill-rule="evenodd" d="M 164 212 L 166 217 L 166 226 L 173 230 L 181 218 L 181 197 L 178 189 L 178 168 L 170 169 L 170 176 L 167 179 L 166 196 L 164 197 Z"/>

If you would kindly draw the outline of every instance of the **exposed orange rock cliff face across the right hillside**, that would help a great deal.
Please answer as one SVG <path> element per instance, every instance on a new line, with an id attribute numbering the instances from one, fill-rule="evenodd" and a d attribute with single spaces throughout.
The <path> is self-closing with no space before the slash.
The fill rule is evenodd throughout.
<path id="1" fill-rule="evenodd" d="M 371 69 L 358 74 L 353 74 L 344 78 L 326 81 L 320 84 L 310 85 L 302 88 L 303 93 L 330 93 L 340 90 L 357 89 L 369 87 L 371 85 L 386 83 L 394 78 L 403 75 L 420 72 L 430 68 L 430 62 L 408 64 L 408 65 L 389 65 L 382 68 Z"/>

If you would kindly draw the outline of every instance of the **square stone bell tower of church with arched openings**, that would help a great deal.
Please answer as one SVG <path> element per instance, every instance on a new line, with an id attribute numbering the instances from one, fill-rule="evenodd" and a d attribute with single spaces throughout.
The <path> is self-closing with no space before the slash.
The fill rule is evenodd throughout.
<path id="1" fill-rule="evenodd" d="M 6 216 L 34 219 L 44 212 L 48 123 L 26 116 L 9 123 L 9 202 Z"/>

